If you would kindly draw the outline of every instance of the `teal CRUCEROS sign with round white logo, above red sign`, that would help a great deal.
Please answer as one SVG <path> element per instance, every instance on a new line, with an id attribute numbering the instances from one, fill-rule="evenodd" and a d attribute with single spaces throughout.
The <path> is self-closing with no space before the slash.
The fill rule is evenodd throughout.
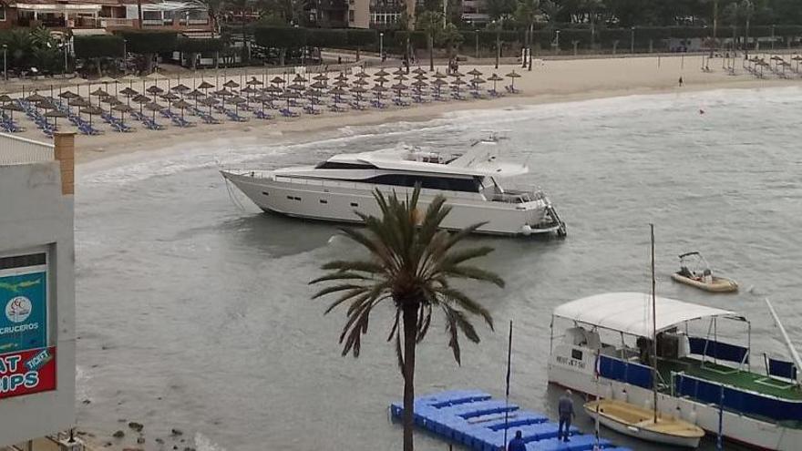
<path id="1" fill-rule="evenodd" d="M 0 353 L 47 345 L 47 273 L 0 276 Z"/>

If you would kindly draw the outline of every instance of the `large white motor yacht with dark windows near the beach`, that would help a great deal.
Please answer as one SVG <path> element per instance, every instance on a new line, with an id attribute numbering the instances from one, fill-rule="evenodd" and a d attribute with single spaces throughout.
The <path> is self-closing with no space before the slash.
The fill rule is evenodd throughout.
<path id="1" fill-rule="evenodd" d="M 502 188 L 500 179 L 529 169 L 500 162 L 497 143 L 498 138 L 491 136 L 461 155 L 399 148 L 334 155 L 316 166 L 221 170 L 221 174 L 262 210 L 298 218 L 358 222 L 355 211 L 379 214 L 375 190 L 403 197 L 420 184 L 421 210 L 437 195 L 447 198 L 452 210 L 443 221 L 446 229 L 487 221 L 478 232 L 565 236 L 565 223 L 543 191 Z"/>

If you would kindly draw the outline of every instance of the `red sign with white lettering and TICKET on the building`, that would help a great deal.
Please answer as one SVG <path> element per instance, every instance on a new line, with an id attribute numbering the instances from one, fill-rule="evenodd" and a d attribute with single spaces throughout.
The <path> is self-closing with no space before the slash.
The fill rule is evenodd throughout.
<path id="1" fill-rule="evenodd" d="M 0 399 L 56 390 L 56 347 L 0 354 Z"/>

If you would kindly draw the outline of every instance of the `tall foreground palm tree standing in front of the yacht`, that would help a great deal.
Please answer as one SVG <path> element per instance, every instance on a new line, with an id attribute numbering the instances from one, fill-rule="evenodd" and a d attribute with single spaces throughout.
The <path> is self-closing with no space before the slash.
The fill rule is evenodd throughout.
<path id="1" fill-rule="evenodd" d="M 445 198 L 437 196 L 429 204 L 426 215 L 420 218 L 417 210 L 419 195 L 420 187 L 416 187 L 412 198 L 407 197 L 406 201 L 398 200 L 395 193 L 385 197 L 376 190 L 374 197 L 382 217 L 357 211 L 356 214 L 365 221 L 366 230 L 343 230 L 349 239 L 368 251 L 369 258 L 329 261 L 323 266 L 328 273 L 310 282 L 335 282 L 313 297 L 316 299 L 331 293 L 339 295 L 325 313 L 349 303 L 347 321 L 340 335 L 343 355 L 359 356 L 362 335 L 367 333 L 370 313 L 377 305 L 385 301 L 395 305 L 395 320 L 387 341 L 395 339 L 398 368 L 404 377 L 404 451 L 413 450 L 416 344 L 426 336 L 433 310 L 439 308 L 445 313 L 448 346 L 459 364 L 458 333 L 463 333 L 473 343 L 479 342 L 473 324 L 468 321 L 468 313 L 481 316 L 491 330 L 493 320 L 478 302 L 454 288 L 452 280 L 473 279 L 504 286 L 498 275 L 464 264 L 488 255 L 492 248 L 455 248 L 458 242 L 483 224 L 456 233 L 442 231 L 440 224 L 451 210 L 444 205 Z"/>

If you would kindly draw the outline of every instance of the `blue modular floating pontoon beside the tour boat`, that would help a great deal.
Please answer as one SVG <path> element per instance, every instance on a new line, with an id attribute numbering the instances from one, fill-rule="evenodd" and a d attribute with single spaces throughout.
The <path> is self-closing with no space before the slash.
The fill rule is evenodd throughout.
<path id="1" fill-rule="evenodd" d="M 400 419 L 403 412 L 403 403 L 390 405 L 394 417 Z M 582 435 L 575 427 L 571 427 L 570 442 L 558 441 L 557 424 L 545 415 L 507 405 L 478 390 L 449 390 L 415 399 L 417 426 L 476 451 L 504 449 L 505 415 L 508 440 L 520 431 L 528 451 L 586 451 L 595 444 L 593 436 Z M 602 439 L 599 445 L 609 451 L 630 451 L 609 440 Z"/>

